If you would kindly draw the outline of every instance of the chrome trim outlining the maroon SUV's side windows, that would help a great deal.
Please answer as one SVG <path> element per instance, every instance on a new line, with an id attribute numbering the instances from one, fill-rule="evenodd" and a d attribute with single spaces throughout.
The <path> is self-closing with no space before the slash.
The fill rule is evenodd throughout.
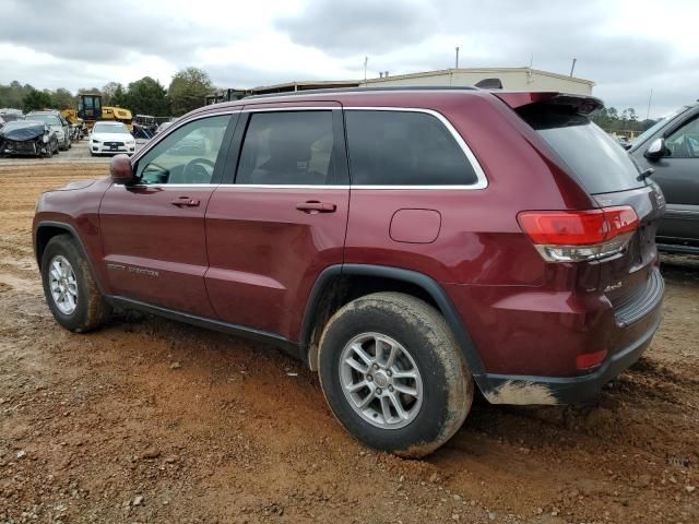
<path id="1" fill-rule="evenodd" d="M 178 122 L 177 126 L 173 126 L 169 128 L 152 146 L 147 150 L 152 150 L 155 147 L 161 140 L 167 136 L 170 132 L 179 129 L 181 126 L 186 123 L 192 122 L 194 120 L 199 120 L 208 117 L 216 117 L 221 115 L 233 115 L 235 112 L 269 112 L 269 111 L 318 111 L 318 110 L 344 110 L 344 111 L 399 111 L 399 112 L 422 112 L 426 115 L 430 115 L 437 118 L 445 128 L 450 132 L 453 139 L 457 141 L 463 154 L 466 156 L 466 159 L 473 167 L 473 170 L 476 175 L 476 182 L 471 184 L 454 184 L 454 186 L 372 186 L 372 184 L 343 184 L 343 186 L 308 186 L 308 184 L 279 184 L 279 183 L 218 183 L 218 184 L 210 184 L 210 183 L 159 183 L 159 184 L 134 184 L 131 186 L 133 188 L 260 188 L 260 189 L 312 189 L 312 190 L 321 190 L 321 189 L 348 189 L 348 190 L 368 190 L 376 189 L 381 191 L 387 190 L 395 190 L 395 191 L 419 191 L 419 190 L 428 190 L 428 191 L 443 191 L 443 190 L 459 190 L 459 191 L 474 191 L 482 190 L 488 187 L 488 179 L 485 176 L 485 171 L 478 159 L 475 157 L 469 144 L 463 140 L 461 134 L 455 130 L 455 128 L 451 124 L 451 122 L 439 111 L 434 109 L 426 109 L 419 107 L 391 107 L 391 106 L 360 106 L 360 107 L 344 107 L 344 106 L 303 106 L 303 107 L 260 107 L 254 108 L 250 107 L 248 109 L 235 108 L 227 109 L 224 111 L 216 112 L 206 112 L 203 115 L 198 115 L 192 118 L 189 118 L 182 122 Z M 137 153 L 131 159 L 131 165 L 133 165 L 138 159 L 143 156 L 144 148 Z M 351 174 L 352 175 L 352 174 Z M 123 184 L 116 184 L 123 186 Z"/>

